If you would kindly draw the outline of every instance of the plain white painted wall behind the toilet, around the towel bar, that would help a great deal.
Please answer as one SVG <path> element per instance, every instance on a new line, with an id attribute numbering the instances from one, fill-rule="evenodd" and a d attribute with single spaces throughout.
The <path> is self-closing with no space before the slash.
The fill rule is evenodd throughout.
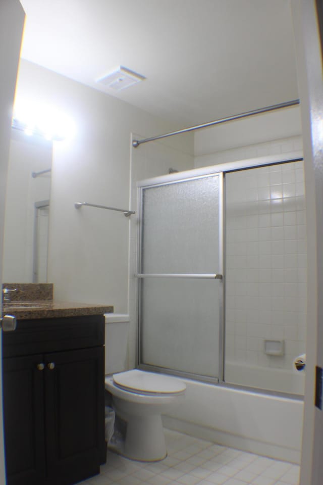
<path id="1" fill-rule="evenodd" d="M 130 220 L 101 209 L 76 210 L 74 203 L 128 209 L 131 132 L 152 136 L 175 127 L 27 61 L 17 93 L 18 101 L 24 98 L 55 105 L 76 125 L 73 139 L 53 143 L 48 280 L 55 298 L 111 304 L 127 313 Z M 190 140 L 178 145 L 184 158 L 193 151 Z"/>

